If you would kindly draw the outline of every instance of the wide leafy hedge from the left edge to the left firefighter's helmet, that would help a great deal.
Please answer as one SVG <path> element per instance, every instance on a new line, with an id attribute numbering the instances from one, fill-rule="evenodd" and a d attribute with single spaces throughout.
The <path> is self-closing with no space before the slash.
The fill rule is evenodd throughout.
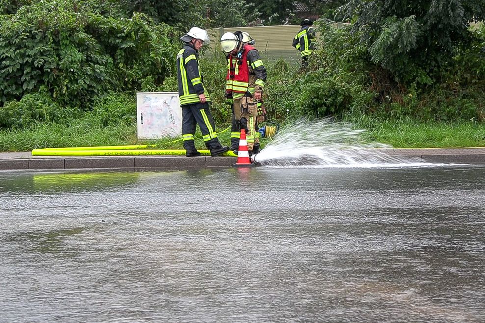
<path id="1" fill-rule="evenodd" d="M 162 83 L 175 55 L 171 28 L 142 14 L 97 14 L 78 1 L 41 0 L 0 16 L 0 105 L 44 87 L 61 104 L 86 108 L 110 90 Z"/>

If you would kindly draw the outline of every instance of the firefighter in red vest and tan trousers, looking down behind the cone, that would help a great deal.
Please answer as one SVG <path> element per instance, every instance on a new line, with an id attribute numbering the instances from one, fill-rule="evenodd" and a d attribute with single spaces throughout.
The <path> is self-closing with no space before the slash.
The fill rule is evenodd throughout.
<path id="1" fill-rule="evenodd" d="M 226 98 L 233 99 L 235 122 L 231 127 L 231 149 L 239 147 L 240 130 L 246 130 L 250 154 L 259 152 L 257 101 L 261 100 L 266 81 L 266 68 L 258 50 L 243 42 L 241 31 L 226 32 L 220 39 L 227 55 Z M 237 153 L 237 151 L 235 151 Z"/>

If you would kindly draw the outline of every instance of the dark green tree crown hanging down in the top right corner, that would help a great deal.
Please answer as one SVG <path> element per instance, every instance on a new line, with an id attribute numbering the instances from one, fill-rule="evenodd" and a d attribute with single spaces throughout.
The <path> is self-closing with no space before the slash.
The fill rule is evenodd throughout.
<path id="1" fill-rule="evenodd" d="M 483 0 L 350 0 L 342 9 L 372 62 L 418 87 L 446 77 L 454 56 L 477 42 L 470 23 L 485 18 Z"/>

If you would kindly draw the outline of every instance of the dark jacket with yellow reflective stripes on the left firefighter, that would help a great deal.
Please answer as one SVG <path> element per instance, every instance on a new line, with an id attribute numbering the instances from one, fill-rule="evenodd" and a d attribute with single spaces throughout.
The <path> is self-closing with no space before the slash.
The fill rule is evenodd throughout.
<path id="1" fill-rule="evenodd" d="M 207 102 L 211 101 L 204 87 L 198 58 L 197 50 L 190 43 L 186 43 L 177 54 L 177 78 L 181 106 L 199 103 L 199 94 L 202 93 Z"/>

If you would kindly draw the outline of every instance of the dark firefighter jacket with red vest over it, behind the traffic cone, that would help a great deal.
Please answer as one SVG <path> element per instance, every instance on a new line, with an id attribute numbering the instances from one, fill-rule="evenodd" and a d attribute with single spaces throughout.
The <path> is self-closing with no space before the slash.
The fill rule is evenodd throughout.
<path id="1" fill-rule="evenodd" d="M 266 81 L 266 68 L 258 50 L 245 44 L 237 57 L 227 56 L 226 93 L 238 99 L 262 92 Z"/>

